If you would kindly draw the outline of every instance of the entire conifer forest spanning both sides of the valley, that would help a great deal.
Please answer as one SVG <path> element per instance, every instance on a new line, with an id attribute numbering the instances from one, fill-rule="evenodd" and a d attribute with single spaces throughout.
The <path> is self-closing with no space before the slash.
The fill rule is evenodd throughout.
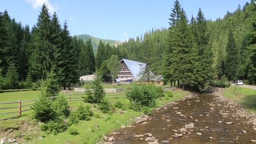
<path id="1" fill-rule="evenodd" d="M 5 10 L 0 13 L 0 85 L 24 88 L 53 70 L 65 88 L 96 68 L 104 71 L 101 64 L 112 55 L 147 63 L 166 84 L 177 81 L 197 89 L 217 79 L 256 84 L 255 0 L 214 21 L 205 19 L 203 8 L 188 18 L 176 0 L 166 19 L 168 28 L 149 30 L 117 46 L 100 40 L 94 54 L 91 40 L 72 37 L 67 22 L 61 26 L 45 4 L 31 29 Z"/>

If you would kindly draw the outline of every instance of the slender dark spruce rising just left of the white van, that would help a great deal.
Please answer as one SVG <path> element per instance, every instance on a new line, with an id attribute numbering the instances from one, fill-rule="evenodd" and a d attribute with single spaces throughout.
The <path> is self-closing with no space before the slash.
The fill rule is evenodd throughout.
<path id="1" fill-rule="evenodd" d="M 235 72 L 237 69 L 237 49 L 233 33 L 229 31 L 228 43 L 226 48 L 225 74 L 228 80 L 235 80 Z"/>

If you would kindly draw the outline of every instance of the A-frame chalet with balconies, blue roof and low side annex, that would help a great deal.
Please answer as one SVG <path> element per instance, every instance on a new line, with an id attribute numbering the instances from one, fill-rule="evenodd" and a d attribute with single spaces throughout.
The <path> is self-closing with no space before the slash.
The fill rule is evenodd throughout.
<path id="1" fill-rule="evenodd" d="M 144 80 L 141 78 L 141 73 L 147 64 L 129 59 L 122 59 L 120 63 L 121 69 L 117 74 L 117 77 L 120 81 L 136 81 L 136 83 L 148 82 L 147 78 L 144 78 Z M 163 85 L 163 76 L 155 75 L 153 72 L 150 72 L 149 83 Z"/>

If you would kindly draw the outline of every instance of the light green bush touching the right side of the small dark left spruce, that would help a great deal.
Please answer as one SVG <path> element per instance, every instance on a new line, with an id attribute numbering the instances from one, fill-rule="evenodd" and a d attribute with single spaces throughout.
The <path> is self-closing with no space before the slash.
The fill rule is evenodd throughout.
<path id="1" fill-rule="evenodd" d="M 60 96 L 53 102 L 53 109 L 58 115 L 64 115 L 65 117 L 69 116 L 70 106 L 67 99 L 64 96 Z"/>

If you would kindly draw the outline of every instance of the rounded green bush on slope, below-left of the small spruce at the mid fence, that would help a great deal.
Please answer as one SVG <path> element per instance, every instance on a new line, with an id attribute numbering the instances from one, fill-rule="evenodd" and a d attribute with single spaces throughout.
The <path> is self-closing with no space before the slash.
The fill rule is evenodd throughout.
<path id="1" fill-rule="evenodd" d="M 79 120 L 90 120 L 93 116 L 93 111 L 90 109 L 89 105 L 84 106 L 82 103 L 77 107 L 76 115 Z"/>

